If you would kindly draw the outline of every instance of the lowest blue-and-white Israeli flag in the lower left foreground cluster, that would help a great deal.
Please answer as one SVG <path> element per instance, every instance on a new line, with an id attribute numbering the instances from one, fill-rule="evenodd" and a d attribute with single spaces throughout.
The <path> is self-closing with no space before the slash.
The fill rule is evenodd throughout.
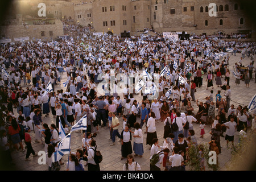
<path id="1" fill-rule="evenodd" d="M 63 138 L 58 143 L 58 150 L 54 152 L 54 158 L 52 158 L 52 162 L 59 161 L 64 154 L 69 154 L 71 151 L 70 149 L 70 142 L 71 142 L 71 133 L 69 133 L 65 138 Z"/>

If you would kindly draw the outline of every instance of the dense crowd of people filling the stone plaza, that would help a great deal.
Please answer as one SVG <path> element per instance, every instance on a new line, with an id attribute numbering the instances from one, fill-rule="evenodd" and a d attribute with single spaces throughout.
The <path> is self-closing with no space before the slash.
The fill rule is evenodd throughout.
<path id="1" fill-rule="evenodd" d="M 131 40 L 109 35 L 93 37 L 86 29 L 74 31 L 72 39 L 51 45 L 41 40 L 1 45 L 0 124 L 5 160 L 10 162 L 10 151 L 25 150 L 22 140 L 27 148 L 25 160 L 30 160 L 30 154 L 36 156 L 29 135 L 34 129 L 35 142 L 44 146 L 47 164 L 52 170 L 55 165 L 51 159 L 60 141 L 59 120 L 68 133 L 84 115 L 87 115 L 88 126 L 86 134 L 82 132 L 82 150 L 70 155 L 69 171 L 81 169 L 80 164 L 82 168 L 88 164 L 88 170 L 100 170 L 100 165 L 93 160 L 99 127 L 109 130 L 111 146 L 115 145 L 115 138 L 119 138 L 121 160 L 127 158 L 124 170 L 141 169 L 131 154 L 134 151 L 134 156 L 143 157 L 144 124 L 151 170 L 160 170 L 161 165 L 166 170 L 184 170 L 191 144 L 195 144 L 201 154 L 193 122 L 200 123 L 200 138 L 204 138 L 205 125 L 212 127 L 209 146 L 217 154 L 221 153 L 220 137 L 224 137 L 224 133 L 227 142 L 233 143 L 235 128 L 246 132 L 247 123 L 251 123 L 255 131 L 255 118 L 251 122 L 247 108 L 239 105 L 236 109 L 230 105 L 232 73 L 228 68 L 231 55 L 214 60 L 211 54 L 221 52 L 221 43 L 209 39 L 208 43 L 191 40 L 186 44 L 179 40 L 171 42 L 159 35 L 137 37 L 128 48 Z M 254 60 L 251 59 L 243 77 L 240 68 L 244 65 L 246 52 L 254 55 L 256 44 L 225 42 L 225 47 L 243 51 L 236 67 L 236 84 L 244 78 L 249 87 Z M 160 75 L 164 68 L 167 68 L 166 73 Z M 145 73 L 151 74 L 152 80 Z M 223 83 L 222 78 L 225 79 Z M 150 88 L 151 92 L 137 92 L 140 80 L 144 81 L 142 90 Z M 64 82 L 64 89 L 56 89 Z M 52 92 L 48 92 L 48 83 L 52 85 Z M 216 94 L 214 86 L 218 88 Z M 152 92 L 153 87 L 157 88 L 155 92 Z M 204 101 L 197 100 L 195 92 L 205 88 L 212 88 L 209 96 Z M 135 100 L 137 94 L 142 94 L 141 100 Z M 51 126 L 42 120 L 49 114 L 56 118 Z M 255 117 L 255 111 L 253 115 Z M 163 122 L 163 146 L 158 142 L 155 126 L 158 122 Z M 155 154 L 160 158 L 157 162 L 154 162 Z M 63 163 L 60 161 L 60 164 Z"/>

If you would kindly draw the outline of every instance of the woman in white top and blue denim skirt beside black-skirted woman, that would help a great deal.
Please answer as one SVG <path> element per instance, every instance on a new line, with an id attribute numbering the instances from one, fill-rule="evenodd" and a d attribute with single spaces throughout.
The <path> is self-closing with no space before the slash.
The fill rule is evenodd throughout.
<path id="1" fill-rule="evenodd" d="M 134 154 L 135 156 L 139 155 L 139 157 L 142 158 L 142 155 L 144 153 L 143 150 L 143 133 L 141 130 L 141 126 L 139 125 L 138 122 L 134 123 L 134 143 L 133 143 L 133 150 L 134 150 Z"/>

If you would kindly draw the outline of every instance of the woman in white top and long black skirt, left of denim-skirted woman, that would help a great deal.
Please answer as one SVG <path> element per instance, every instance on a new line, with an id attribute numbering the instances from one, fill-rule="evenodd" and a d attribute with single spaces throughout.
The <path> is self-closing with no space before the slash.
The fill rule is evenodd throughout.
<path id="1" fill-rule="evenodd" d="M 126 158 L 127 155 L 132 154 L 132 148 L 131 148 L 131 131 L 129 131 L 129 125 L 125 125 L 125 130 L 121 133 L 121 152 L 122 152 L 122 158 Z"/>

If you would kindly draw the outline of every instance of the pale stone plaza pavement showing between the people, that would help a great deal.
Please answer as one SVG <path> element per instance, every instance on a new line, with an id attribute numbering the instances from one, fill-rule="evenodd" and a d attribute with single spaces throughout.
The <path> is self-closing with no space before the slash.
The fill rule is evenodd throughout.
<path id="1" fill-rule="evenodd" d="M 231 53 L 229 53 L 231 55 Z M 247 106 L 249 104 L 251 97 L 254 96 L 255 90 L 256 90 L 256 84 L 254 83 L 255 80 L 250 81 L 250 88 L 246 88 L 244 81 L 241 81 L 241 84 L 239 86 L 236 86 L 234 83 L 235 78 L 233 77 L 232 69 L 233 65 L 238 62 L 240 59 L 241 54 L 237 53 L 237 56 L 231 56 L 229 60 L 229 70 L 231 72 L 230 74 L 230 86 L 232 90 L 232 96 L 231 96 L 231 104 L 234 104 L 235 107 L 238 105 Z M 245 57 L 243 59 L 243 65 L 249 65 L 250 59 L 249 57 Z M 61 85 L 55 86 L 55 92 L 57 89 L 64 89 L 63 82 L 66 81 L 66 75 L 63 73 L 61 75 Z M 206 76 L 204 76 L 205 80 Z M 23 82 L 23 81 L 22 81 Z M 224 78 L 222 78 L 222 83 L 224 82 Z M 23 83 L 22 83 L 23 84 Z M 203 87 L 197 88 L 197 92 L 195 93 L 196 100 L 198 99 L 200 101 L 205 101 L 205 97 L 209 96 L 210 90 L 206 90 L 207 82 L 203 81 Z M 24 88 L 26 85 L 22 85 Z M 214 96 L 217 93 L 217 90 L 220 88 L 215 85 L 214 81 Z M 65 89 L 64 89 L 65 90 Z M 224 96 L 224 91 L 221 91 L 221 96 Z M 121 97 L 122 99 L 122 97 Z M 135 95 L 135 99 L 141 102 L 142 96 L 141 94 Z M 215 97 L 214 97 L 215 101 Z M 197 106 L 196 102 L 192 102 L 192 105 L 195 109 L 195 113 L 197 112 Z M 15 110 L 15 109 L 14 109 Z M 184 110 L 182 110 L 184 111 Z M 16 112 L 16 110 L 15 110 Z M 217 111 L 216 111 L 217 114 Z M 16 114 L 17 115 L 17 114 Z M 50 125 L 52 122 L 55 123 L 56 118 L 53 118 L 52 114 L 49 114 L 49 117 L 44 118 L 42 117 L 43 122 Z M 119 122 L 121 125 L 119 126 L 119 133 L 122 131 L 122 118 L 119 118 Z M 139 118 L 137 118 L 137 122 L 139 121 Z M 207 125 L 205 127 L 205 135 L 204 138 L 200 138 L 200 128 L 199 124 L 193 123 L 193 128 L 196 133 L 197 142 L 200 143 L 208 143 L 210 141 L 210 130 L 211 127 Z M 143 133 L 146 131 L 145 125 L 142 128 Z M 100 163 L 101 171 L 122 171 L 123 164 L 125 164 L 126 159 L 121 159 L 121 143 L 115 142 L 115 146 L 110 146 L 112 141 L 109 141 L 110 135 L 109 135 L 109 129 L 104 129 L 104 127 L 99 127 L 98 131 L 100 133 L 97 134 L 97 137 L 94 138 L 96 140 L 97 149 L 101 151 L 101 154 L 103 156 L 103 160 Z M 164 125 L 163 122 L 156 123 L 156 132 L 159 139 L 159 146 L 163 145 L 164 139 L 163 139 L 163 131 L 164 131 Z M 32 147 L 34 148 L 35 152 L 38 153 L 39 151 L 43 151 L 43 146 L 40 143 L 35 142 L 35 134 L 31 131 L 31 138 L 32 138 Z M 118 139 L 117 139 L 118 140 Z M 141 166 L 142 171 L 149 171 L 150 170 L 150 146 L 146 146 L 146 134 L 143 134 L 143 147 L 144 147 L 144 154 L 142 158 L 139 158 L 138 156 L 135 156 L 135 160 L 138 162 L 138 164 Z M 236 131 L 234 136 L 234 143 L 238 143 L 238 132 Z M 24 142 L 23 142 L 24 144 Z M 82 134 L 81 133 L 75 133 L 73 132 L 71 135 L 71 151 L 76 152 L 76 149 L 81 148 L 82 146 Z M 133 146 L 133 141 L 132 141 Z M 226 141 L 224 138 L 221 137 L 221 147 L 222 147 L 222 153 L 218 155 L 218 161 L 220 164 L 220 170 L 225 171 L 227 170 L 227 166 L 229 164 L 229 160 L 231 158 L 231 150 L 226 147 Z M 20 171 L 46 171 L 48 170 L 48 166 L 46 164 L 39 165 L 38 159 L 39 156 L 32 157 L 30 156 L 30 161 L 25 161 L 25 155 L 26 151 L 24 152 L 12 152 L 13 162 L 16 164 L 15 169 Z M 68 161 L 68 155 L 63 156 L 63 162 L 65 163 L 63 166 L 61 166 L 61 171 L 65 170 L 66 163 Z M 187 167 L 188 169 L 188 167 Z M 88 170 L 87 167 L 85 167 L 85 170 Z M 162 168 L 163 170 L 163 168 Z"/>

